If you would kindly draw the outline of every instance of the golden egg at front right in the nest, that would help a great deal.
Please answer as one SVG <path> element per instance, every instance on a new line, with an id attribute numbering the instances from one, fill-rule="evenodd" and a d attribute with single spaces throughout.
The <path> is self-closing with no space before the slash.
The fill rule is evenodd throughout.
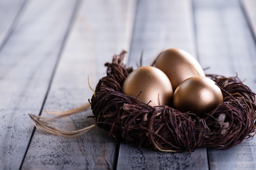
<path id="1" fill-rule="evenodd" d="M 183 81 L 173 94 L 173 108 L 202 117 L 223 102 L 221 89 L 205 76 L 195 76 Z"/>

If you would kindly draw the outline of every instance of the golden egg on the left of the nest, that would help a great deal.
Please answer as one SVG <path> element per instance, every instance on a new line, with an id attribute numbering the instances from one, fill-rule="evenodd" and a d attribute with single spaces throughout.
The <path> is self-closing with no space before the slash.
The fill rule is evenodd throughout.
<path id="1" fill-rule="evenodd" d="M 139 100 L 146 104 L 149 102 L 150 106 L 170 105 L 173 96 L 173 88 L 166 74 L 152 66 L 132 71 L 124 81 L 122 92 L 135 98 L 138 96 Z M 140 103 L 138 100 L 131 100 Z"/>

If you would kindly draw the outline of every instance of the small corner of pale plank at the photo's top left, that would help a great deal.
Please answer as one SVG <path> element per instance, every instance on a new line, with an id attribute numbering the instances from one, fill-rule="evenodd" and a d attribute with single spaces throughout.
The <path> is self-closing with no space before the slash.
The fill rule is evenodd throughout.
<path id="1" fill-rule="evenodd" d="M 15 28 L 25 2 L 26 0 L 0 1 L 0 50 Z"/>

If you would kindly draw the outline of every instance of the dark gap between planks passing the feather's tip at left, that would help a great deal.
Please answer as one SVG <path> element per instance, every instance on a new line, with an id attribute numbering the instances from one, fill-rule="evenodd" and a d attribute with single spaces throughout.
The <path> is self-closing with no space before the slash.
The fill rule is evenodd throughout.
<path id="1" fill-rule="evenodd" d="M 44 100 L 43 100 L 42 106 L 41 106 L 40 111 L 39 111 L 39 116 L 40 116 L 41 113 L 43 112 L 43 108 L 44 108 L 44 106 L 45 106 L 45 102 L 46 102 L 46 100 L 47 100 L 49 91 L 50 91 L 50 89 L 51 89 L 52 82 L 53 82 L 54 76 L 55 76 L 55 74 L 56 74 L 56 70 L 57 70 L 57 67 L 58 67 L 59 61 L 60 61 L 60 59 L 61 59 L 61 55 L 62 55 L 63 49 L 64 49 L 65 44 L 66 44 L 66 41 L 67 41 L 67 37 L 68 37 L 68 35 L 70 34 L 70 31 L 72 30 L 72 26 L 73 26 L 73 24 L 74 24 L 74 18 L 75 18 L 75 15 L 76 15 L 76 13 L 77 13 L 77 11 L 78 11 L 78 8 L 79 8 L 80 4 L 81 4 L 81 0 L 76 0 L 76 4 L 75 4 L 75 6 L 74 6 L 74 11 L 72 12 L 72 15 L 71 15 L 71 17 L 70 17 L 70 21 L 69 21 L 69 24 L 68 24 L 68 26 L 67 26 L 67 31 L 66 31 L 66 33 L 65 33 L 65 35 L 64 35 L 63 42 L 62 42 L 62 44 L 61 44 L 61 48 L 60 48 L 60 50 L 59 50 L 59 52 L 58 52 L 58 57 L 57 57 L 57 59 L 56 59 L 55 65 L 54 65 L 54 69 L 53 69 L 53 72 L 52 72 L 52 76 L 51 76 L 51 78 L 50 78 L 49 85 L 48 85 L 48 87 L 47 87 L 47 91 L 46 91 L 46 94 L 45 94 L 45 98 L 44 98 Z M 36 130 L 36 128 L 34 127 L 32 133 L 31 133 L 31 137 L 30 137 L 29 143 L 28 143 L 28 145 L 27 145 L 27 150 L 26 150 L 26 152 L 25 152 L 25 154 L 24 154 L 24 156 L 23 156 L 22 162 L 21 162 L 21 164 L 20 164 L 19 170 L 22 169 L 22 165 L 23 165 L 24 160 L 25 160 L 25 157 L 26 157 L 26 155 L 27 155 L 28 148 L 29 148 L 29 146 L 30 146 L 30 144 L 31 144 L 31 141 L 32 141 L 32 139 L 33 139 L 35 130 Z"/>

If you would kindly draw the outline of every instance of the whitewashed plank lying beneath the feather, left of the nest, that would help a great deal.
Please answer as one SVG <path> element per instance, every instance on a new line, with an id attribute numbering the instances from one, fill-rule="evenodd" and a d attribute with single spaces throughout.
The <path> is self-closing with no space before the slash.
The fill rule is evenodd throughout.
<path id="1" fill-rule="evenodd" d="M 44 109 L 64 111 L 83 105 L 106 75 L 104 63 L 114 53 L 129 49 L 136 3 L 94 0 L 79 4 Z M 42 113 L 43 116 L 48 116 Z M 92 111 L 64 119 L 59 127 L 82 129 L 94 123 Z M 61 121 L 61 120 L 60 120 Z M 65 124 L 64 124 L 65 123 Z M 95 127 L 77 139 L 34 133 L 22 169 L 115 169 L 116 143 L 108 132 Z"/>

